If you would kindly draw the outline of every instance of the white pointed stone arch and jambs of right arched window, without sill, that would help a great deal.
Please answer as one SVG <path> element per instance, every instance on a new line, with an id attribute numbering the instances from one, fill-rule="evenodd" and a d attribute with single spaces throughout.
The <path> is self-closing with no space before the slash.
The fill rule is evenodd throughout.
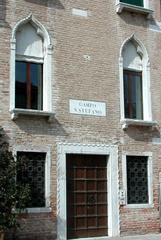
<path id="1" fill-rule="evenodd" d="M 142 42 L 132 34 L 127 38 L 120 48 L 119 57 L 119 78 L 120 78 L 120 111 L 121 111 L 121 122 L 124 122 L 124 81 L 123 81 L 123 49 L 129 41 L 134 41 L 138 45 L 138 51 L 142 54 L 143 66 L 142 66 L 142 89 L 143 89 L 143 119 L 144 121 L 152 121 L 152 110 L 151 110 L 151 89 L 150 89 L 150 62 L 146 48 Z"/>

